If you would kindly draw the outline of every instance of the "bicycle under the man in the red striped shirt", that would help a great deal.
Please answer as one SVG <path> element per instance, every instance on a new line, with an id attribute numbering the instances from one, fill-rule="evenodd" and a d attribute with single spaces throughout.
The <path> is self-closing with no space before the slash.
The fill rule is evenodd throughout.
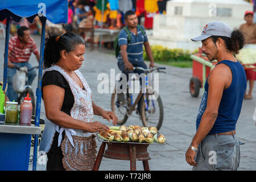
<path id="1" fill-rule="evenodd" d="M 26 85 L 24 86 L 24 90 L 18 93 L 18 105 L 22 104 L 22 101 L 24 100 L 25 97 L 27 97 L 27 93 L 28 93 L 28 96 L 31 98 L 32 115 L 35 115 L 35 109 L 36 109 L 35 96 L 34 96 L 34 92 L 32 91 L 31 85 L 27 85 L 27 80 L 28 80 L 27 73 L 32 69 L 35 69 L 35 68 L 38 69 L 39 66 L 32 67 L 31 69 L 27 69 L 27 68 L 24 69 L 24 67 L 18 67 L 18 66 L 15 66 L 14 68 L 26 73 Z"/>

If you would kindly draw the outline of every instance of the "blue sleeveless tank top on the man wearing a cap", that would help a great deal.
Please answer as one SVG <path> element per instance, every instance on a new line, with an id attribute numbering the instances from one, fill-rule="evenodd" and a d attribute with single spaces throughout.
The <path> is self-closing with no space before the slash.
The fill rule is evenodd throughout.
<path id="1" fill-rule="evenodd" d="M 209 134 L 224 133 L 236 130 L 236 123 L 241 112 L 243 96 L 246 90 L 245 69 L 239 61 L 233 62 L 223 60 L 220 63 L 226 64 L 232 71 L 232 83 L 223 90 L 220 106 L 218 107 L 217 119 Z M 220 64 L 218 63 L 218 64 Z M 208 76 L 209 77 L 209 76 Z M 207 78 L 208 81 L 208 78 Z M 207 107 L 208 82 L 205 82 L 203 98 L 196 119 L 196 130 L 199 128 L 201 117 Z"/>

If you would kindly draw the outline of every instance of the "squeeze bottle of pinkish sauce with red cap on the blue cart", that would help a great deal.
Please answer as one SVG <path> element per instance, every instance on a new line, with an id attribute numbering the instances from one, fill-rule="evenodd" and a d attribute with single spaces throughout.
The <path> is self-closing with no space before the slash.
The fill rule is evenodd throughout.
<path id="1" fill-rule="evenodd" d="M 31 117 L 32 117 L 32 103 L 31 98 L 27 97 L 24 98 L 24 101 L 22 104 L 20 104 L 20 117 L 19 117 L 19 123 L 20 124 L 31 124 Z"/>

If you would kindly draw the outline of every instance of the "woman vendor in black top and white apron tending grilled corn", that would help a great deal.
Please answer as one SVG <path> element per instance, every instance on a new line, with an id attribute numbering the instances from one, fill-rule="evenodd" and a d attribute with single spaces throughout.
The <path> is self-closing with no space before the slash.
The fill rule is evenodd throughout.
<path id="1" fill-rule="evenodd" d="M 47 170 L 92 170 L 96 160 L 95 135 L 109 127 L 95 121 L 100 115 L 117 123 L 112 111 L 92 101 L 92 92 L 78 70 L 84 61 L 85 42 L 67 32 L 49 36 L 44 49 L 42 98 L 46 109 L 45 129 L 39 151 L 47 154 Z"/>

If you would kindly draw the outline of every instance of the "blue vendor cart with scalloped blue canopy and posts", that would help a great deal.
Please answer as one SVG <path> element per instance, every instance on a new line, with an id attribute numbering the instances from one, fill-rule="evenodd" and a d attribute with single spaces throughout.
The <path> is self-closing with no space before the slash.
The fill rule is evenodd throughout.
<path id="1" fill-rule="evenodd" d="M 33 171 L 36 170 L 38 156 L 38 135 L 41 133 L 39 127 L 40 106 L 42 97 L 42 69 L 44 55 L 44 37 L 46 20 L 52 23 L 67 23 L 68 0 L 1 0 L 0 20 L 6 19 L 5 36 L 5 59 L 3 70 L 3 90 L 7 83 L 7 59 L 10 32 L 10 19 L 19 22 L 22 17 L 28 22 L 39 16 L 42 22 L 42 34 L 40 44 L 40 62 L 38 74 L 38 88 L 36 89 L 36 115 L 35 125 L 23 126 L 18 124 L 0 125 L 0 170 L 28 170 L 31 135 L 35 135 Z"/>

